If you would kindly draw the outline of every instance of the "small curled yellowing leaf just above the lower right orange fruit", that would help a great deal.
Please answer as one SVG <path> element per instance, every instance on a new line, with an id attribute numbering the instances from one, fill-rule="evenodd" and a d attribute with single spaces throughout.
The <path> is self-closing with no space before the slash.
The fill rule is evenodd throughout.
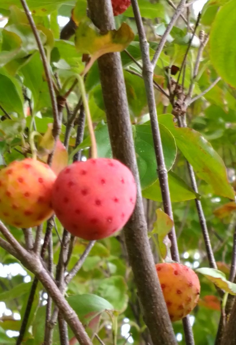
<path id="1" fill-rule="evenodd" d="M 167 248 L 170 248 L 171 246 L 171 242 L 166 236 L 171 231 L 173 221 L 165 212 L 162 211 L 161 208 L 158 208 L 156 210 L 156 216 L 157 220 L 154 223 L 152 234 L 158 235 L 158 245 L 160 249 L 160 254 L 164 259 L 167 254 Z"/>

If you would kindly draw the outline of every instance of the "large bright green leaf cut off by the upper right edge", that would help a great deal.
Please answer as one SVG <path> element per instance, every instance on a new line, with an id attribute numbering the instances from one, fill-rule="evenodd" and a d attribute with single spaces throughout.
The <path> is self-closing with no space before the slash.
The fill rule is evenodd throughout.
<path id="1" fill-rule="evenodd" d="M 227 2 L 216 14 L 210 33 L 210 58 L 217 73 L 236 87 L 235 1 Z"/>

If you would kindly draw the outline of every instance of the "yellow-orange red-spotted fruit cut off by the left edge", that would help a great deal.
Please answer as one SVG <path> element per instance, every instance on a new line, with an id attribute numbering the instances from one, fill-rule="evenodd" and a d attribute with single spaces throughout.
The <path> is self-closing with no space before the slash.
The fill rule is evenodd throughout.
<path id="1" fill-rule="evenodd" d="M 18 228 L 41 224 L 53 214 L 56 175 L 38 160 L 13 161 L 0 171 L 0 219 Z"/>

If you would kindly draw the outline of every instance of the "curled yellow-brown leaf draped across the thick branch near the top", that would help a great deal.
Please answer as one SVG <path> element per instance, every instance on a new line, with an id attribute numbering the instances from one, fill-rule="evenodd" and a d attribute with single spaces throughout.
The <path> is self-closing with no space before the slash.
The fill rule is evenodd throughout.
<path id="1" fill-rule="evenodd" d="M 91 55 L 83 74 L 100 56 L 124 50 L 133 39 L 134 33 L 126 23 L 122 23 L 118 30 L 102 34 L 91 20 L 82 20 L 75 32 L 75 47 L 80 53 Z"/>

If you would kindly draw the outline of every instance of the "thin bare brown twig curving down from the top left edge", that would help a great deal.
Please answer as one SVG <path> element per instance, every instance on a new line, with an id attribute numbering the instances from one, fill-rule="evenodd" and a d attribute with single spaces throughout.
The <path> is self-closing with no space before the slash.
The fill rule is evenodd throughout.
<path id="1" fill-rule="evenodd" d="M 20 0 L 20 1 L 21 1 L 22 6 L 23 6 L 24 12 L 25 12 L 25 14 L 29 20 L 31 29 L 33 31 L 35 40 L 36 40 L 38 48 L 39 48 L 40 56 L 41 56 L 41 59 L 43 62 L 43 68 L 44 68 L 45 76 L 47 79 L 51 103 L 52 103 L 52 112 L 53 112 L 53 120 L 54 120 L 53 121 L 53 137 L 54 137 L 54 139 L 57 139 L 59 134 L 60 134 L 60 130 L 61 130 L 61 123 L 60 123 L 61 121 L 60 121 L 60 117 L 58 114 L 57 100 L 55 97 L 55 92 L 54 92 L 54 88 L 53 88 L 53 82 L 52 82 L 52 78 L 51 78 L 51 73 L 50 73 L 47 57 L 46 57 L 46 54 L 45 54 L 43 44 L 42 44 L 42 41 L 40 39 L 38 30 L 37 30 L 37 27 L 34 23 L 30 9 L 27 5 L 27 2 L 25 0 Z"/>

